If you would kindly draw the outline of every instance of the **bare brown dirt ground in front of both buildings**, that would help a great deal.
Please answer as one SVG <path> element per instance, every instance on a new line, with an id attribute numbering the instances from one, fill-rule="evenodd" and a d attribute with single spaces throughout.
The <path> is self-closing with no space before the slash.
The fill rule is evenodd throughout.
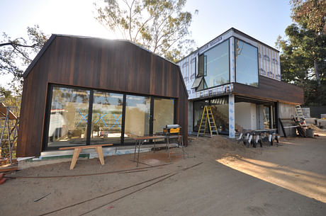
<path id="1" fill-rule="evenodd" d="M 0 186 L 0 215 L 324 216 L 326 132 L 319 134 L 256 149 L 200 137 L 186 159 L 179 148 L 172 163 L 165 150 L 143 153 L 137 169 L 130 154 L 103 166 L 79 160 L 72 171 L 69 162 L 24 169 Z"/>

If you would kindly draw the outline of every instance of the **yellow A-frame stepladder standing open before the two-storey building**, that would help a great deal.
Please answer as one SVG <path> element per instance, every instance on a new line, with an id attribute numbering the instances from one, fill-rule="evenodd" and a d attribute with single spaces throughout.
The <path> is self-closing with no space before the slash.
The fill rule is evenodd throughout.
<path id="1" fill-rule="evenodd" d="M 212 113 L 212 109 L 210 108 L 210 106 L 204 107 L 203 114 L 201 115 L 201 124 L 199 125 L 199 128 L 198 128 L 197 137 L 199 135 L 205 135 L 206 125 L 208 125 L 208 127 L 209 127 L 210 137 L 213 136 L 213 132 L 215 132 L 216 135 L 218 135 L 218 127 L 216 127 L 214 115 Z"/>

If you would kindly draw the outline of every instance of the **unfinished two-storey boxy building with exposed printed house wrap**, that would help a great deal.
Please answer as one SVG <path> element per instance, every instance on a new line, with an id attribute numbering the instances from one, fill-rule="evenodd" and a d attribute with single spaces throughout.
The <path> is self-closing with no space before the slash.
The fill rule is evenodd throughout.
<path id="1" fill-rule="evenodd" d="M 279 128 L 303 103 L 303 89 L 281 81 L 279 51 L 230 28 L 178 62 L 189 94 L 189 132 L 203 106 L 213 108 L 218 132 Z M 281 131 L 279 131 L 281 133 Z"/>

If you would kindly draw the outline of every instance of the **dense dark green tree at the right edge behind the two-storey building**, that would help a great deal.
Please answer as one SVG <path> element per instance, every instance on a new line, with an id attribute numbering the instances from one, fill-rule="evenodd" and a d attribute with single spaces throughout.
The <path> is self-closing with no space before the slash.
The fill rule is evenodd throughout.
<path id="1" fill-rule="evenodd" d="M 278 38 L 282 80 L 302 86 L 305 105 L 326 105 L 325 1 L 291 0 L 293 23 Z"/>

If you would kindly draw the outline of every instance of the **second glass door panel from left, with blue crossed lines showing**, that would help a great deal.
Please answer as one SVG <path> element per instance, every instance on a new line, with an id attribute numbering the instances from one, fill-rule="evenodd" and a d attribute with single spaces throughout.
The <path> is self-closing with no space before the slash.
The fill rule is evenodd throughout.
<path id="1" fill-rule="evenodd" d="M 123 94 L 94 91 L 91 144 L 120 143 Z"/>

